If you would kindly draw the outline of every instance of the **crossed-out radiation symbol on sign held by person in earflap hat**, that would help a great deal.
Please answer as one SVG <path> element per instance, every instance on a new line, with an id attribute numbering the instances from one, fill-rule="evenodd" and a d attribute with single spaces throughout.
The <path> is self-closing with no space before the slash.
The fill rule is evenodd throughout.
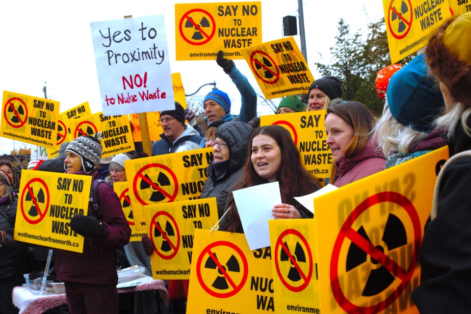
<path id="1" fill-rule="evenodd" d="M 21 212 L 30 224 L 43 220 L 49 208 L 49 189 L 40 178 L 31 179 L 25 184 L 21 195 Z"/>

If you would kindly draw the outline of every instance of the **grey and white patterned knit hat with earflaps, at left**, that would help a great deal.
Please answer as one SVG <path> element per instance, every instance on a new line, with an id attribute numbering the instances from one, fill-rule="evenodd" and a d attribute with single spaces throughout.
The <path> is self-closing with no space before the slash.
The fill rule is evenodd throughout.
<path id="1" fill-rule="evenodd" d="M 82 167 L 85 173 L 91 173 L 96 169 L 102 157 L 102 132 L 94 135 L 79 136 L 69 143 L 66 152 L 71 152 L 82 160 Z M 65 163 L 64 168 L 67 170 Z"/>

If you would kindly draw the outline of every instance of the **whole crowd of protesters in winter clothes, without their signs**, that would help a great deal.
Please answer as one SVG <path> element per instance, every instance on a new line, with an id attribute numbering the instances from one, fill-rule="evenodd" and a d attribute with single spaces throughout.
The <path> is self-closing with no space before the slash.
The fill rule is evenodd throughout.
<path id="1" fill-rule="evenodd" d="M 404 67 L 391 65 L 380 70 L 377 93 L 385 105 L 379 119 L 367 104 L 342 99 L 341 82 L 332 76 L 316 79 L 307 97 L 283 98 L 276 112 L 326 110 L 326 143 L 333 156 L 327 181 L 338 187 L 448 145 L 450 159 L 439 175 L 419 252 L 421 283 L 413 299 L 421 313 L 467 313 L 471 306 L 471 196 L 467 196 L 471 194 L 466 191 L 471 186 L 468 39 L 471 13 L 438 27 L 426 49 Z M 317 191 L 324 182 L 306 171 L 286 129 L 259 126 L 257 95 L 234 62 L 223 52 L 217 53 L 216 62 L 240 92 L 240 112 L 231 113 L 229 95 L 213 89 L 201 104 L 206 116 L 202 128 L 193 112 L 175 103 L 175 109 L 160 112 L 163 132 L 153 144 L 152 154 L 212 148 L 209 177 L 200 198 L 216 198 L 220 230 L 244 232 L 232 191 L 275 181 L 280 184 L 282 204 L 273 207 L 273 217 L 312 218 L 313 213 L 294 197 Z M 303 103 L 306 98 L 307 103 Z M 56 276 L 65 283 L 72 314 L 120 313 L 117 252 L 125 255 L 128 264 L 151 272 L 153 244 L 147 236 L 129 242 L 131 230 L 111 187 L 127 181 L 125 161 L 139 156 L 118 154 L 106 159 L 101 155 L 97 133 L 63 144 L 54 159 L 30 163 L 36 170 L 91 176 L 92 185 L 96 184 L 98 210 L 90 203 L 87 213 L 74 216 L 70 222 L 73 231 L 89 239 L 83 253 L 54 250 Z M 103 182 L 107 184 L 99 184 Z M 0 160 L 0 314 L 18 313 L 12 305 L 12 289 L 21 285 L 23 274 L 31 270 L 27 244 L 13 240 L 18 187 L 11 163 Z M 41 248 L 35 249 L 40 252 Z M 168 306 L 160 300 L 161 291 L 145 291 L 136 293 L 134 305 L 126 310 L 185 313 L 188 281 L 167 284 Z"/>

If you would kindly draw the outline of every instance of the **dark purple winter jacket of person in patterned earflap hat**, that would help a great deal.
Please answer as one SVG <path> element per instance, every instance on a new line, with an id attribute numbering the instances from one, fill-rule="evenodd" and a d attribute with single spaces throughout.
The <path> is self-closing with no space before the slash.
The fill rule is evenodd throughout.
<path id="1" fill-rule="evenodd" d="M 76 174 L 86 175 L 83 171 Z M 91 173 L 92 181 L 99 172 Z M 118 275 L 114 249 L 129 242 L 131 229 L 121 208 L 119 198 L 108 184 L 98 184 L 98 211 L 88 204 L 88 216 L 103 222 L 103 234 L 96 239 L 85 238 L 83 253 L 56 249 L 55 271 L 63 282 L 90 285 L 117 285 Z"/>

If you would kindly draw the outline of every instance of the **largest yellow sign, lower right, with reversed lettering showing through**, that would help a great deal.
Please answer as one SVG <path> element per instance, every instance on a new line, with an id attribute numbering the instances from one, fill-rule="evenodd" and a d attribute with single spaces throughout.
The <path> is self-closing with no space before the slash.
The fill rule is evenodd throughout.
<path id="1" fill-rule="evenodd" d="M 324 313 L 418 313 L 417 257 L 447 158 L 443 147 L 314 199 Z"/>

